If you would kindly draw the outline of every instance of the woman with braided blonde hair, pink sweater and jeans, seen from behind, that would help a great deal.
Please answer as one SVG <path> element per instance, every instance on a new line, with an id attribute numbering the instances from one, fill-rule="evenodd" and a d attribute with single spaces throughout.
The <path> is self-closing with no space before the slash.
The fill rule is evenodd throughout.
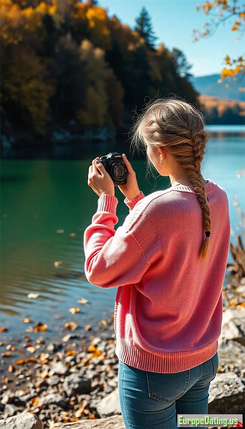
<path id="1" fill-rule="evenodd" d="M 113 181 L 98 158 L 89 167 L 99 198 L 84 232 L 85 274 L 99 287 L 118 288 L 114 328 L 126 428 L 176 428 L 178 414 L 208 412 L 230 221 L 225 190 L 201 175 L 207 140 L 203 116 L 190 103 L 149 104 L 132 144 L 143 145 L 172 186 L 145 196 L 123 154 L 129 174 L 119 189 L 129 214 L 116 231 Z"/>

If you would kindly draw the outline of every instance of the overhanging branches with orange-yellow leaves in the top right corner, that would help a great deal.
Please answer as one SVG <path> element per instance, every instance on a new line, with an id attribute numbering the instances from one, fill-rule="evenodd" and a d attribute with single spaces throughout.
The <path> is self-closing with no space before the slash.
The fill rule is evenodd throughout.
<path id="1" fill-rule="evenodd" d="M 206 22 L 203 25 L 203 31 L 199 31 L 196 28 L 193 30 L 192 38 L 195 42 L 202 37 L 212 37 L 218 27 L 230 18 L 233 18 L 233 23 L 230 28 L 231 31 L 240 35 L 240 38 L 243 36 L 245 32 L 245 4 L 240 5 L 237 0 L 206 0 L 204 4 L 197 4 L 196 10 L 202 10 L 206 16 L 209 15 L 211 18 L 209 22 Z M 236 40 L 239 40 L 239 37 Z M 219 83 L 221 83 L 224 78 L 229 79 L 230 77 L 233 77 L 235 80 L 234 76 L 240 73 L 245 73 L 245 58 L 242 54 L 237 58 L 232 59 L 227 53 L 224 61 L 226 66 L 229 66 L 230 68 L 228 69 L 227 67 L 224 67 L 221 70 L 221 79 L 219 80 Z M 245 88 L 242 87 L 239 89 L 240 91 L 245 90 Z"/>

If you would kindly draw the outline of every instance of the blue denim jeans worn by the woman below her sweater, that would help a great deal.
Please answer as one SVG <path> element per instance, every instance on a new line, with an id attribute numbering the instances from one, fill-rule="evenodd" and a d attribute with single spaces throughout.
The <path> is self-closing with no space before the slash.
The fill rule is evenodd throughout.
<path id="1" fill-rule="evenodd" d="M 119 400 L 126 429 L 176 429 L 177 414 L 207 414 L 218 353 L 194 368 L 153 373 L 119 360 Z"/>

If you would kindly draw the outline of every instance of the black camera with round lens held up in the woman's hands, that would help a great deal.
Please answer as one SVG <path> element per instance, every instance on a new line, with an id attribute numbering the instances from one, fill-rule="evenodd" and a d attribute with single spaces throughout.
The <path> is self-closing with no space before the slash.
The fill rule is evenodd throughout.
<path id="1" fill-rule="evenodd" d="M 114 185 L 124 185 L 127 182 L 128 171 L 121 153 L 109 152 L 107 155 L 100 156 L 99 162 L 103 164 Z"/>

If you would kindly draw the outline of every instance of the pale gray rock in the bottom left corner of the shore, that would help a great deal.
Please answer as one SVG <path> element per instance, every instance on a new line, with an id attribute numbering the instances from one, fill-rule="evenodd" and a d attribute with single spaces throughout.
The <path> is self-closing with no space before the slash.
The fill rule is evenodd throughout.
<path id="1" fill-rule="evenodd" d="M 43 429 L 43 427 L 41 420 L 29 412 L 0 420 L 0 429 Z"/>

